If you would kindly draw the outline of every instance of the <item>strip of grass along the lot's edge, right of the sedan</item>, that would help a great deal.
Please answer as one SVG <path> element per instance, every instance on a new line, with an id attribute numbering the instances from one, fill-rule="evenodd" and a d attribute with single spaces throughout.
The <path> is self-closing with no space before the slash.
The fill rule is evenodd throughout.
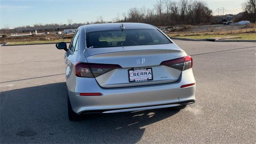
<path id="1" fill-rule="evenodd" d="M 226 37 L 226 36 L 239 36 L 242 38 L 236 38 L 238 40 L 256 40 L 256 33 L 244 33 L 244 34 L 202 34 L 202 35 L 184 35 L 184 36 L 176 36 L 179 38 L 193 38 L 193 39 L 204 39 L 204 38 L 219 38 L 219 37 Z"/>

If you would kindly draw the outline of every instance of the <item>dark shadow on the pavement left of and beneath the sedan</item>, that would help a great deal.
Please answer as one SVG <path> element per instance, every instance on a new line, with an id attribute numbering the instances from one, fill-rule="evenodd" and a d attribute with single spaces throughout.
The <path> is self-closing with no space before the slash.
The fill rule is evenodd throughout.
<path id="1" fill-rule="evenodd" d="M 67 116 L 66 83 L 1 92 L 0 143 L 136 143 L 149 124 L 168 118 L 168 109 Z"/>

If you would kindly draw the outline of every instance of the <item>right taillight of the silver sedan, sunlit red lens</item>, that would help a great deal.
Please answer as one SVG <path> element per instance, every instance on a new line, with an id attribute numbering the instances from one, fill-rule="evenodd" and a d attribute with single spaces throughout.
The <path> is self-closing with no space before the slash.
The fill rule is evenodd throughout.
<path id="1" fill-rule="evenodd" d="M 173 60 L 166 60 L 160 65 L 169 66 L 178 70 L 187 70 L 193 66 L 193 58 L 191 56 L 184 56 Z"/>

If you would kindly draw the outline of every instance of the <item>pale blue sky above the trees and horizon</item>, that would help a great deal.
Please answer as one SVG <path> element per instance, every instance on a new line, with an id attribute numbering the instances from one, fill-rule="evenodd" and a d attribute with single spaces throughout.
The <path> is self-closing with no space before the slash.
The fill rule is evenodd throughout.
<path id="1" fill-rule="evenodd" d="M 67 24 L 96 21 L 98 16 L 111 21 L 130 8 L 154 8 L 157 0 L 0 0 L 0 28 L 33 26 L 34 24 Z M 175 0 L 178 1 L 178 0 Z M 242 12 L 246 0 L 201 0 L 208 4 L 213 15 L 224 7 L 224 14 Z"/>

